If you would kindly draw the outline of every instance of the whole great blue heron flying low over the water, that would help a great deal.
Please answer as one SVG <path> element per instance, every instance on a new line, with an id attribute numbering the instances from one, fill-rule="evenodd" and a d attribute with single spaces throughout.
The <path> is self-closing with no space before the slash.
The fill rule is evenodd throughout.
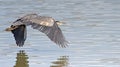
<path id="1" fill-rule="evenodd" d="M 37 29 L 45 33 L 50 40 L 59 46 L 66 47 L 68 41 L 65 40 L 57 22 L 58 21 L 55 21 L 52 17 L 27 14 L 14 21 L 10 28 L 7 28 L 6 31 L 11 31 L 13 33 L 17 46 L 21 47 L 24 45 L 26 40 L 26 26 L 31 25 L 33 29 Z"/>

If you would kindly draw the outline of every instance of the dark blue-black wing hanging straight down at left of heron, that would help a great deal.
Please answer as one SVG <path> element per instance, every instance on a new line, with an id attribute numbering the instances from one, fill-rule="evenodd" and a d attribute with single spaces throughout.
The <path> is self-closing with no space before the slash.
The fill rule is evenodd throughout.
<path id="1" fill-rule="evenodd" d="M 16 29 L 12 30 L 17 46 L 23 46 L 26 40 L 26 26 L 20 25 Z"/>

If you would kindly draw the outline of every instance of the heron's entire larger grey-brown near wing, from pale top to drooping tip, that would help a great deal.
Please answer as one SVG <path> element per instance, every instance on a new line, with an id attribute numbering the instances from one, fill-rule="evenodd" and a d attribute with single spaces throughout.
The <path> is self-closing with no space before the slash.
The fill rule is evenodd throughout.
<path id="1" fill-rule="evenodd" d="M 67 46 L 68 42 L 65 40 L 61 29 L 58 27 L 55 20 L 51 17 L 29 14 L 15 21 L 14 24 L 17 22 L 19 24 L 31 25 L 33 29 L 37 29 L 45 33 L 50 38 L 50 40 L 61 47 Z"/>

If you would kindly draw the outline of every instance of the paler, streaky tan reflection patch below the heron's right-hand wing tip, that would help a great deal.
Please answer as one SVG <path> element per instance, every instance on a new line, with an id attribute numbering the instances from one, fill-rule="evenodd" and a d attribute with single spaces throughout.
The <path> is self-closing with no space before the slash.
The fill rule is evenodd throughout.
<path id="1" fill-rule="evenodd" d="M 56 61 L 52 62 L 53 65 L 50 67 L 67 67 L 68 66 L 68 56 L 60 56 Z"/>

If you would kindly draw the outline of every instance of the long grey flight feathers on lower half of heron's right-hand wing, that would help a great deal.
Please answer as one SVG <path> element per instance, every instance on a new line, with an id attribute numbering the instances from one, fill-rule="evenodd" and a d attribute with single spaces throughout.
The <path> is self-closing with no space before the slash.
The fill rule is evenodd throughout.
<path id="1" fill-rule="evenodd" d="M 62 34 L 61 29 L 58 27 L 57 24 L 54 24 L 52 27 L 49 26 L 42 26 L 38 24 L 32 24 L 33 29 L 37 29 L 43 33 L 45 33 L 50 40 L 55 42 L 61 47 L 66 47 L 67 46 L 67 41 L 65 40 L 65 37 Z"/>

